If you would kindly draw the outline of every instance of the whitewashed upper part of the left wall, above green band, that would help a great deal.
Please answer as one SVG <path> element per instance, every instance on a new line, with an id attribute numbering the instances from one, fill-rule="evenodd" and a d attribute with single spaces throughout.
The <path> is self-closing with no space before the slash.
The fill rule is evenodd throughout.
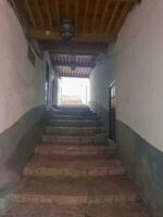
<path id="1" fill-rule="evenodd" d="M 27 41 L 5 0 L 0 0 L 0 132 L 24 113 L 45 104 L 45 75 L 40 60 L 27 59 Z"/>

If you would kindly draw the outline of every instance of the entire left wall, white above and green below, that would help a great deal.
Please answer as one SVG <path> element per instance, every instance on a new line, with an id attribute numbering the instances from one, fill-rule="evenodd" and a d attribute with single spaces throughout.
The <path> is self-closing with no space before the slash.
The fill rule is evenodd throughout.
<path id="1" fill-rule="evenodd" d="M 36 55 L 35 66 L 30 63 L 27 40 L 7 0 L 0 1 L 0 21 L 1 197 L 1 189 L 17 180 L 41 131 L 36 124 L 45 113 L 46 58 Z"/>

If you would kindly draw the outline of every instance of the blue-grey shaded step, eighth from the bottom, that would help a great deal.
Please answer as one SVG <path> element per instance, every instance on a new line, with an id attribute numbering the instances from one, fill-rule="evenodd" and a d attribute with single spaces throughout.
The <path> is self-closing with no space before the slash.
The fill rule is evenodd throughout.
<path id="1" fill-rule="evenodd" d="M 62 120 L 99 120 L 98 116 L 74 116 L 74 115 L 51 115 L 49 119 L 62 119 Z"/>

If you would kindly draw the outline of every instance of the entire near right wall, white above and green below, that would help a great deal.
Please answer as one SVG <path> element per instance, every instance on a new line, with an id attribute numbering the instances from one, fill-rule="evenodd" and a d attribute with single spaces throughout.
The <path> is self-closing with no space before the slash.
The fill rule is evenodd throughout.
<path id="1" fill-rule="evenodd" d="M 142 0 L 114 50 L 116 143 L 153 217 L 163 214 L 163 1 Z"/>

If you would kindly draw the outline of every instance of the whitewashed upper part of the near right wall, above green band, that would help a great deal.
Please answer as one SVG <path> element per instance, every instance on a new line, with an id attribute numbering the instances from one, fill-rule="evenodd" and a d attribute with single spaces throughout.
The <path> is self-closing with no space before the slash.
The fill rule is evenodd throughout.
<path id="1" fill-rule="evenodd" d="M 163 151 L 163 1 L 142 0 L 115 48 L 117 119 Z"/>

